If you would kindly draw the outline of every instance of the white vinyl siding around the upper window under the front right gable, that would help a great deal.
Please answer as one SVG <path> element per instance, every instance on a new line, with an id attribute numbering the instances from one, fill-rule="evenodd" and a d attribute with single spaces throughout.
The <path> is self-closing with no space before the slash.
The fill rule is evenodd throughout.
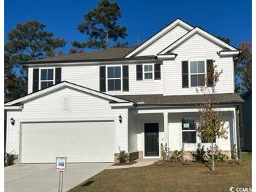
<path id="1" fill-rule="evenodd" d="M 217 51 L 222 50 L 215 43 L 195 34 L 191 39 L 173 50 L 177 53 L 175 60 L 163 61 L 164 95 L 194 95 L 195 87 L 182 88 L 182 61 L 215 60 L 217 70 L 222 70 L 220 81 L 217 82 L 217 93 L 234 92 L 234 62 L 232 57 L 220 57 Z M 171 74 L 171 75 L 170 75 Z M 190 77 L 189 77 L 190 79 Z M 190 80 L 189 80 L 190 81 Z M 190 85 L 190 83 L 189 83 Z"/>

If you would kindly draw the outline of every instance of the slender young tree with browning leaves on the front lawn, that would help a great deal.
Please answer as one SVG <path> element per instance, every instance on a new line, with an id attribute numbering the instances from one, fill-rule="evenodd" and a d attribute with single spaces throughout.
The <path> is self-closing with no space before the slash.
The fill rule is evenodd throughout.
<path id="1" fill-rule="evenodd" d="M 200 116 L 196 132 L 198 137 L 211 144 L 213 171 L 215 170 L 213 142 L 215 138 L 227 139 L 227 130 L 222 123 L 220 111 L 217 110 L 217 101 L 214 100 L 214 95 L 217 93 L 215 87 L 222 74 L 222 71 L 217 71 L 216 68 L 217 66 L 213 63 L 208 64 L 208 76 L 203 76 L 201 88 L 197 90 L 205 95 L 206 102 L 203 102 L 199 108 Z"/>

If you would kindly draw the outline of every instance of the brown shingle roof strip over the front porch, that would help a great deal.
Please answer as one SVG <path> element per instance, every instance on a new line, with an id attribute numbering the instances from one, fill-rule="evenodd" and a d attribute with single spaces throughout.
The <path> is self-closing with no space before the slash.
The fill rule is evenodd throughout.
<path id="1" fill-rule="evenodd" d="M 138 105 L 189 105 L 202 104 L 208 100 L 209 95 L 118 95 L 123 100 L 135 102 Z M 217 104 L 236 104 L 244 102 L 237 93 L 224 93 L 210 95 Z"/>

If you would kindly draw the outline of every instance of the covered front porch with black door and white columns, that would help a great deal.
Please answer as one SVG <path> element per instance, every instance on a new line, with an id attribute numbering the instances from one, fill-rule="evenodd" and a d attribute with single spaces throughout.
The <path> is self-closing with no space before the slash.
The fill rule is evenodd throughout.
<path id="1" fill-rule="evenodd" d="M 234 144 L 239 147 L 238 111 L 236 107 L 217 110 L 228 133 L 227 139 L 216 139 L 215 144 L 231 156 Z M 131 110 L 129 116 L 128 151 L 138 151 L 140 158 L 161 158 L 161 144 L 167 144 L 170 152 L 182 149 L 184 144 L 186 153 L 196 151 L 198 143 L 210 147 L 196 135 L 194 125 L 199 117 L 196 107 L 141 107 Z"/>

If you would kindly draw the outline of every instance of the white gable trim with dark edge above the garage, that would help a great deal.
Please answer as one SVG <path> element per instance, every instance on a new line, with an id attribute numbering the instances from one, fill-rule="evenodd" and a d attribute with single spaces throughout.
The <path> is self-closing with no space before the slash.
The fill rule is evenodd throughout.
<path id="1" fill-rule="evenodd" d="M 93 89 L 90 89 L 90 88 L 86 88 L 86 87 L 83 87 L 81 85 L 76 85 L 74 83 L 70 83 L 68 81 L 62 81 L 61 83 L 58 83 L 56 85 L 52 85 L 48 88 L 45 88 L 43 90 L 38 90 L 36 92 L 32 92 L 28 95 L 25 95 L 23 97 L 20 97 L 18 98 L 17 100 L 12 100 L 10 102 L 6 102 L 4 104 L 5 107 L 7 106 L 12 106 L 12 105 L 16 105 L 16 104 L 21 104 L 23 102 L 26 102 L 28 100 L 32 100 L 36 97 L 40 97 L 41 95 L 45 95 L 49 92 L 53 92 L 54 90 L 58 90 L 60 88 L 73 88 L 75 90 L 80 90 L 80 91 L 83 91 L 83 92 L 87 92 L 91 95 L 95 95 L 97 97 L 102 97 L 104 98 L 105 100 L 109 100 L 112 101 L 112 102 L 121 102 L 121 103 L 129 103 L 130 101 L 128 100 L 124 100 L 124 99 L 121 99 L 119 97 L 115 97 L 115 96 L 112 96 L 112 95 L 108 95 L 104 92 L 99 92 L 97 90 L 93 90 Z"/>

